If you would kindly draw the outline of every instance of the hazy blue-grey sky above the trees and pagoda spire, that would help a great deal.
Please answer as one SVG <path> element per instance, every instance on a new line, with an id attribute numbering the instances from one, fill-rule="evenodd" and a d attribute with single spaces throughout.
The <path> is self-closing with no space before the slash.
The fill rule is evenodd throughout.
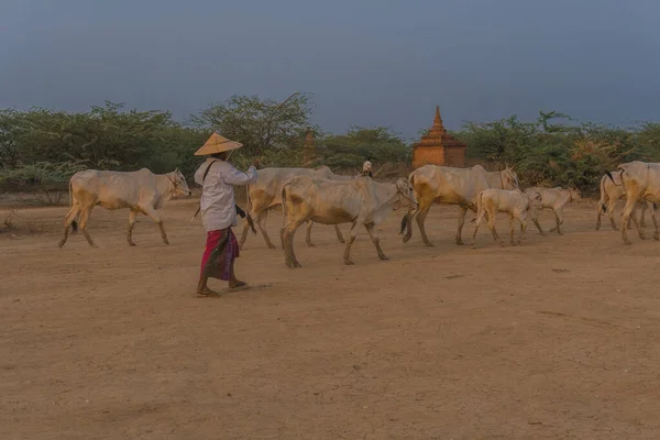
<path id="1" fill-rule="evenodd" d="M 315 94 L 314 120 L 392 125 L 539 110 L 660 120 L 657 0 L 0 0 L 0 107 L 108 99 L 177 119 Z"/>

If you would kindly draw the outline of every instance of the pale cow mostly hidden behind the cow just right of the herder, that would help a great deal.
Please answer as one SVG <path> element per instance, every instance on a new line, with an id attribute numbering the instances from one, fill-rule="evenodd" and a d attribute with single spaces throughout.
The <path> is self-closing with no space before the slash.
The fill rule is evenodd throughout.
<path id="1" fill-rule="evenodd" d="M 309 176 L 320 179 L 333 179 L 333 180 L 349 180 L 355 178 L 354 176 L 342 176 L 332 173 L 332 170 L 321 165 L 318 168 L 263 168 L 260 169 L 256 175 L 256 182 L 246 186 L 248 191 L 248 211 L 252 218 L 256 220 L 256 224 L 270 249 L 275 249 L 271 238 L 266 232 L 266 219 L 268 217 L 268 210 L 282 205 L 282 187 L 284 184 L 296 176 Z M 306 242 L 308 246 L 314 246 L 311 242 L 311 227 L 314 222 L 309 221 L 307 227 Z M 248 228 L 245 223 L 243 232 L 241 234 L 241 241 L 239 245 L 241 249 L 248 239 Z M 344 239 L 339 230 L 339 227 L 334 226 L 334 232 L 340 243 L 344 243 Z"/>

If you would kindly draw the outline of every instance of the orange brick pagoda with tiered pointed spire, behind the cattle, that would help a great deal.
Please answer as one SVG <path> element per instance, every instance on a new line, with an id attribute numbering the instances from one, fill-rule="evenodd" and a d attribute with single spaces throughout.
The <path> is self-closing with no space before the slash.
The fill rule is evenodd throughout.
<path id="1" fill-rule="evenodd" d="M 413 167 L 432 164 L 463 168 L 465 166 L 464 142 L 460 142 L 447 133 L 440 118 L 440 107 L 436 107 L 433 127 L 413 145 Z"/>

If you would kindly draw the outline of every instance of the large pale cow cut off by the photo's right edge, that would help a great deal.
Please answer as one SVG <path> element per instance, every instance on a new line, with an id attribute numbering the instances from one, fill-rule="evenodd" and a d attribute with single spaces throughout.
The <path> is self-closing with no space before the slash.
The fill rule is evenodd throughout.
<path id="1" fill-rule="evenodd" d="M 620 184 L 614 180 L 612 173 L 605 172 L 605 174 L 614 185 L 623 186 L 626 193 L 626 206 L 622 212 L 622 224 L 627 224 L 631 217 L 639 238 L 644 240 L 646 235 L 632 213 L 637 204 L 650 201 L 653 204 L 653 209 L 651 209 L 651 220 L 653 220 L 654 227 L 653 239 L 660 240 L 658 221 L 656 220 L 657 204 L 660 204 L 660 163 L 634 161 L 620 164 L 617 170 L 620 172 Z M 631 244 L 628 240 L 628 228 L 620 228 L 620 230 L 624 243 Z"/>

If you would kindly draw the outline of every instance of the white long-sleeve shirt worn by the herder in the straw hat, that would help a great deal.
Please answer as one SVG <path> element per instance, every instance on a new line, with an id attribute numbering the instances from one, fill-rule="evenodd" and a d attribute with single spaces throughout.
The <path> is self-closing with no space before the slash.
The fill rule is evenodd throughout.
<path id="1" fill-rule="evenodd" d="M 209 174 L 204 174 L 211 162 Z M 204 179 L 204 183 L 202 183 Z M 209 157 L 195 172 L 195 183 L 201 185 L 201 223 L 207 232 L 235 227 L 237 218 L 234 185 L 246 185 L 256 179 L 256 168 L 251 166 L 246 173 L 241 173 L 230 163 Z"/>

